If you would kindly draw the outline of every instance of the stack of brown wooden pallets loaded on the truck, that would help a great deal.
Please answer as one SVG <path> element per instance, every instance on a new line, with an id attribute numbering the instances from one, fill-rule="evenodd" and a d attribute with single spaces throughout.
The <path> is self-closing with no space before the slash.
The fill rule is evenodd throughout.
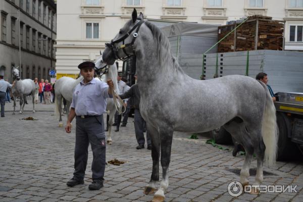
<path id="1" fill-rule="evenodd" d="M 218 40 L 240 23 L 218 27 Z M 250 16 L 240 27 L 218 44 L 218 53 L 252 51 L 257 49 L 283 49 L 284 21 L 267 16 Z"/>

